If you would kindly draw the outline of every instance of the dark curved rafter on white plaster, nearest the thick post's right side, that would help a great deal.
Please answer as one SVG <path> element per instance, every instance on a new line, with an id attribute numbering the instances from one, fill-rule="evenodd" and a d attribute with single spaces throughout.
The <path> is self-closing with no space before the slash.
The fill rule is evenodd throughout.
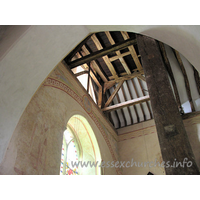
<path id="1" fill-rule="evenodd" d="M 169 62 L 169 60 L 167 58 L 167 53 L 165 51 L 165 46 L 164 46 L 164 44 L 162 42 L 158 42 L 158 43 L 159 43 L 159 46 L 160 46 L 161 54 L 162 54 L 163 59 L 164 59 L 165 67 L 166 67 L 167 72 L 169 74 L 169 77 L 170 77 L 170 79 L 172 81 L 172 85 L 173 85 L 173 88 L 174 88 L 174 94 L 175 94 L 175 97 L 176 97 L 176 101 L 177 101 L 178 107 L 180 109 L 181 108 L 181 101 L 180 101 L 180 97 L 179 97 L 176 81 L 175 81 L 175 78 L 174 78 L 174 74 L 172 72 L 172 68 L 171 68 L 170 62 Z"/>

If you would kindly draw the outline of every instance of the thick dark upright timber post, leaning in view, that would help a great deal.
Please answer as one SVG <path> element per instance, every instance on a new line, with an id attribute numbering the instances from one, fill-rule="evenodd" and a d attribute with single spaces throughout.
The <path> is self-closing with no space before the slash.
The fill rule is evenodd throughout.
<path id="1" fill-rule="evenodd" d="M 166 174 L 199 174 L 157 41 L 137 35 L 137 44 Z"/>

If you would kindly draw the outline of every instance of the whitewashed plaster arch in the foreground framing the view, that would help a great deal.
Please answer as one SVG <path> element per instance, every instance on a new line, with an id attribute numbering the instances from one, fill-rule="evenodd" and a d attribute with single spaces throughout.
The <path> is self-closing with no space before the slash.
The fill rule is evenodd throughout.
<path id="1" fill-rule="evenodd" d="M 54 67 L 89 33 L 130 31 L 158 39 L 182 53 L 200 71 L 199 26 L 31 26 L 1 40 L 0 162 L 26 106 Z M 13 36 L 10 33 L 10 37 Z M 7 48 L 7 45 L 9 47 Z M 5 51 L 4 51 L 5 50 Z"/>

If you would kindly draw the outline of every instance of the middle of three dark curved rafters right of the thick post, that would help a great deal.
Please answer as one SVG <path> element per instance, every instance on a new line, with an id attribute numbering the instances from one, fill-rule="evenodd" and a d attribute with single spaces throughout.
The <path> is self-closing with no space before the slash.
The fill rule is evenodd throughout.
<path id="1" fill-rule="evenodd" d="M 186 87 L 186 92 L 187 92 L 187 96 L 188 96 L 188 100 L 190 102 L 190 106 L 191 106 L 191 109 L 192 109 L 192 112 L 195 111 L 195 107 L 194 107 L 194 103 L 192 101 L 192 95 L 191 95 L 191 90 L 190 90 L 190 84 L 189 84 L 189 80 L 188 80 L 188 76 L 187 76 L 187 73 L 185 71 L 185 67 L 183 65 L 183 62 L 181 60 L 181 57 L 180 57 L 180 54 L 178 51 L 176 51 L 175 49 L 173 49 L 174 51 L 174 54 L 177 58 L 177 61 L 179 63 L 179 66 L 180 66 L 180 69 L 182 71 L 182 74 L 183 74 L 183 77 L 184 77 L 184 81 L 185 81 L 185 87 Z"/>

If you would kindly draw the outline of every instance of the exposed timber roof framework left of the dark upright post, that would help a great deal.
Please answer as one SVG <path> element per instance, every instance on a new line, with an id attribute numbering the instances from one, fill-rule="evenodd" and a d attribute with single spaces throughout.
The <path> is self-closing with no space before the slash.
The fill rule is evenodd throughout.
<path id="1" fill-rule="evenodd" d="M 111 32 L 105 32 L 107 41 L 109 41 L 108 46 L 105 46 L 102 41 L 99 40 L 97 34 L 88 36 L 72 53 L 70 53 L 65 61 L 71 69 L 82 66 L 83 71 L 75 73 L 75 76 L 78 77 L 83 74 L 88 74 L 88 83 L 89 79 L 91 79 L 97 86 L 97 88 L 94 86 L 93 88 L 97 97 L 98 107 L 102 109 L 103 112 L 108 113 L 111 122 L 113 121 L 112 116 L 115 115 L 118 121 L 118 127 L 121 127 L 120 111 L 126 125 L 126 115 L 129 116 L 131 124 L 135 123 L 132 110 L 135 112 L 137 120 L 140 121 L 138 108 L 135 106 L 136 104 L 139 105 L 143 118 L 146 119 L 142 103 L 149 101 L 149 96 L 143 97 L 143 91 L 140 92 L 140 95 L 136 91 L 137 96 L 134 97 L 131 94 L 130 88 L 136 90 L 133 79 L 137 78 L 138 81 L 145 81 L 145 77 L 139 60 L 140 55 L 136 52 L 134 47 L 137 45 L 136 39 L 130 37 L 127 32 L 119 33 L 121 34 L 121 40 L 115 42 L 115 38 Z M 128 56 L 129 60 L 126 59 Z M 99 59 L 102 59 L 101 62 L 99 62 Z M 133 63 L 132 66 L 130 65 L 130 59 Z M 109 73 L 105 71 L 102 62 L 107 66 Z M 114 66 L 115 62 L 120 64 L 121 72 Z M 127 81 L 129 80 L 132 82 L 128 84 Z M 142 86 L 140 85 L 139 87 L 141 90 Z M 127 92 L 129 93 L 129 99 L 127 98 Z M 128 109 L 128 114 L 123 110 L 125 107 Z M 112 111 L 114 111 L 114 113 Z M 112 114 L 109 114 L 111 112 Z M 150 109 L 149 112 L 151 112 Z"/>

